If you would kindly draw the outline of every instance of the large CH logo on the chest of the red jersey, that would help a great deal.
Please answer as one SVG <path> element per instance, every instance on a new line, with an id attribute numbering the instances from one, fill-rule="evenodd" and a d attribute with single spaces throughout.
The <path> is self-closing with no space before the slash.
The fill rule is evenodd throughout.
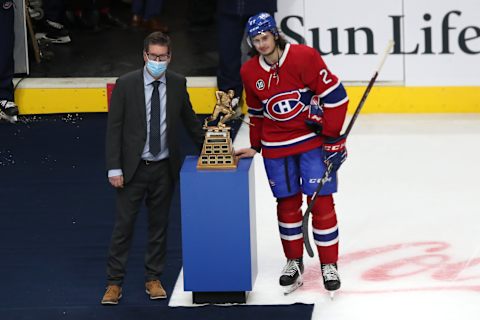
<path id="1" fill-rule="evenodd" d="M 277 94 L 268 100 L 266 111 L 274 120 L 287 121 L 295 118 L 305 106 L 300 101 L 300 92 L 290 91 Z"/>

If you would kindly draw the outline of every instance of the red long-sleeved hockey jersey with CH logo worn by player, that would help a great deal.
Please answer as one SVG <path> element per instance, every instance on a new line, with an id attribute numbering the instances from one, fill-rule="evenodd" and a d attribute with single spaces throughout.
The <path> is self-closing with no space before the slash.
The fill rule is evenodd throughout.
<path id="1" fill-rule="evenodd" d="M 337 137 L 345 120 L 348 97 L 320 54 L 305 45 L 287 44 L 278 67 L 255 56 L 241 68 L 250 121 L 250 143 L 265 158 L 312 150 L 323 139 L 305 124 L 309 105 L 323 104 L 323 135 Z"/>

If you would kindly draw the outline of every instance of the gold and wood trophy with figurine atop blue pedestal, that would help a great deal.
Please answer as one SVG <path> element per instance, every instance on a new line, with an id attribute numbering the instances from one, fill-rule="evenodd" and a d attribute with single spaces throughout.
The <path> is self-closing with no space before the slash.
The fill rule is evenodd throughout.
<path id="1" fill-rule="evenodd" d="M 238 159 L 233 150 L 232 139 L 230 138 L 230 127 L 225 123 L 230 120 L 235 111 L 232 108 L 232 99 L 234 91 L 228 92 L 216 91 L 217 103 L 212 115 L 205 119 L 203 129 L 205 132 L 205 142 L 203 143 L 202 153 L 198 158 L 197 169 L 236 169 Z M 209 126 L 212 121 L 217 120 L 216 126 Z"/>

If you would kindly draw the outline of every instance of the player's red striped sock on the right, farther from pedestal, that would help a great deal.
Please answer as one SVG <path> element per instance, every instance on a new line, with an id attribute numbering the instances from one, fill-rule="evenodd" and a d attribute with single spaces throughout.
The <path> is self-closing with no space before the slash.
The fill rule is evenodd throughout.
<path id="1" fill-rule="evenodd" d="M 310 197 L 307 198 L 310 202 Z M 332 195 L 318 196 L 312 208 L 313 238 L 321 263 L 338 260 L 337 215 Z"/>

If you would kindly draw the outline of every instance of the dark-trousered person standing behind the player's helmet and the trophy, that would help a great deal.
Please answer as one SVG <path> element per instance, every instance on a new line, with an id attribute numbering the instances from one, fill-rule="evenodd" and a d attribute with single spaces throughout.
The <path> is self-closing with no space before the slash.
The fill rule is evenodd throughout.
<path id="1" fill-rule="evenodd" d="M 221 91 L 235 91 L 233 107 L 237 116 L 241 113 L 240 100 L 243 85 L 240 78 L 242 64 L 241 44 L 248 18 L 259 12 L 273 15 L 277 11 L 276 0 L 217 0 L 217 29 L 219 66 L 217 86 Z"/>

